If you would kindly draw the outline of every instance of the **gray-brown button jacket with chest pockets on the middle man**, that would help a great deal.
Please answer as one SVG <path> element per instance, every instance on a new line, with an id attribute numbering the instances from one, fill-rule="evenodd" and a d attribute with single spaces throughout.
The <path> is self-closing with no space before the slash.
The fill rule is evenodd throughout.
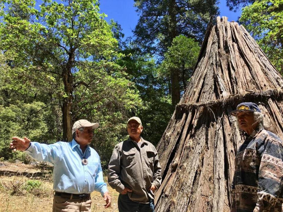
<path id="1" fill-rule="evenodd" d="M 154 145 L 141 138 L 141 145 L 125 140 L 115 146 L 108 165 L 108 183 L 121 193 L 125 187 L 131 200 L 148 203 L 154 194 L 149 191 L 151 185 L 156 188 L 161 183 L 161 167 Z"/>

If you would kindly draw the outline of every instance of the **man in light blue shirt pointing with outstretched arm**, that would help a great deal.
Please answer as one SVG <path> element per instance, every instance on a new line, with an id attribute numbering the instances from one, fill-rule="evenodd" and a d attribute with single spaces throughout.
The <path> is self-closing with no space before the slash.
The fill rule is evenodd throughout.
<path id="1" fill-rule="evenodd" d="M 69 209 L 75 211 L 91 211 L 90 193 L 99 191 L 106 201 L 105 208 L 111 205 L 111 197 L 103 181 L 100 158 L 97 152 L 89 147 L 93 137 L 93 129 L 98 123 L 78 120 L 72 128 L 71 142 L 57 142 L 46 145 L 13 137 L 10 148 L 22 150 L 36 160 L 54 164 L 53 212 Z"/>

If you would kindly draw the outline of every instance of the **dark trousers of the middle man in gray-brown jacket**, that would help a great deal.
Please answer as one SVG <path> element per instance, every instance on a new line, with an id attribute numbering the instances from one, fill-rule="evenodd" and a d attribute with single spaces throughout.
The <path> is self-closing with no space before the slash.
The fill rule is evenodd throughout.
<path id="1" fill-rule="evenodd" d="M 128 194 L 119 194 L 118 197 L 119 212 L 154 212 L 154 200 L 149 203 L 139 203 L 130 200 Z"/>

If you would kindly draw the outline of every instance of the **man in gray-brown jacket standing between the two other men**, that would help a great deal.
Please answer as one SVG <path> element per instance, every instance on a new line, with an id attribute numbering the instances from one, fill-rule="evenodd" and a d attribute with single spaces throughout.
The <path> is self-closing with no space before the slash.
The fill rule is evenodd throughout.
<path id="1" fill-rule="evenodd" d="M 152 143 L 141 138 L 138 117 L 128 120 L 129 138 L 113 150 L 108 165 L 108 183 L 119 194 L 120 212 L 154 212 L 154 191 L 161 183 L 161 167 Z"/>

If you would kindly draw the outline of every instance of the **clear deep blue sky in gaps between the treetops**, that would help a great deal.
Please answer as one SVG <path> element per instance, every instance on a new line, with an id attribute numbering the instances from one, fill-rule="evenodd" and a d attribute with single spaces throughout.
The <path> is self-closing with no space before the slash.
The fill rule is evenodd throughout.
<path id="1" fill-rule="evenodd" d="M 226 6 L 226 0 L 220 0 L 218 7 L 220 16 L 227 16 L 228 21 L 237 21 L 241 15 L 241 11 L 229 11 L 229 8 Z M 107 21 L 110 19 L 118 21 L 123 29 L 125 38 L 132 36 L 131 31 L 135 28 L 139 19 L 138 13 L 135 11 L 134 0 L 100 0 L 100 10 L 108 15 Z"/>

